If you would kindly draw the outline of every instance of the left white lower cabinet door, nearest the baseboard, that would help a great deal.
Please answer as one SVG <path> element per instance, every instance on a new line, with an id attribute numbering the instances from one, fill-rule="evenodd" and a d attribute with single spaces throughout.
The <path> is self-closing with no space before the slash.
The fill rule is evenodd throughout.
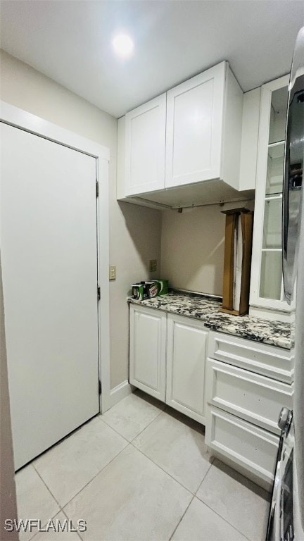
<path id="1" fill-rule="evenodd" d="M 129 383 L 165 402 L 165 313 L 130 305 Z"/>

